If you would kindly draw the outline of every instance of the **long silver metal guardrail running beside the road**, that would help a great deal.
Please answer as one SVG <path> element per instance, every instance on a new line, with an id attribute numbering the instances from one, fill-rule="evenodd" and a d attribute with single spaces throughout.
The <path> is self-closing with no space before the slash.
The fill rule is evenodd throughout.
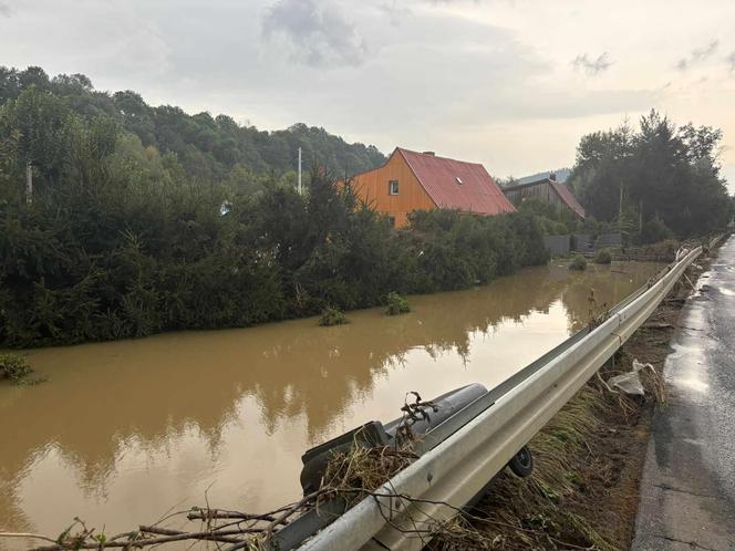
<path id="1" fill-rule="evenodd" d="M 376 490 L 375 496 L 363 499 L 300 549 L 417 550 L 424 547 L 425 530 L 456 514 L 457 509 L 483 491 L 643 324 L 701 252 L 702 248 L 697 247 L 680 256 L 648 290 L 613 311 L 583 339 L 577 339 L 551 357 L 491 407 L 422 455 Z"/>

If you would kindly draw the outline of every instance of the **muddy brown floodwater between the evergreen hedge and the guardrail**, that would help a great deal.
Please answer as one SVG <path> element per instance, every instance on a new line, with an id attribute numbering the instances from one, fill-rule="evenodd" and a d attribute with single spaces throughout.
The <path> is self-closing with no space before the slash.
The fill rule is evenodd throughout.
<path id="1" fill-rule="evenodd" d="M 0 530 L 59 534 L 77 516 L 107 533 L 205 503 L 267 510 L 300 495 L 300 456 L 429 398 L 491 387 L 614 304 L 654 263 L 552 263 L 487 287 L 412 297 L 413 311 L 351 312 L 241 330 L 30 351 L 38 386 L 0 385 Z M 19 541 L 14 541 L 17 545 Z M 0 540 L 0 548 L 9 548 Z"/>

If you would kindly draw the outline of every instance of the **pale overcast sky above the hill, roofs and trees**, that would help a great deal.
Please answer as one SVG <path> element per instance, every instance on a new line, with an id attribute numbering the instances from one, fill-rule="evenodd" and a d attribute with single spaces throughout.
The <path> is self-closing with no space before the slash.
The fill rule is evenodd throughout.
<path id="1" fill-rule="evenodd" d="M 732 0 L 0 0 L 0 64 L 498 176 L 655 107 L 722 127 L 735 183 Z"/>

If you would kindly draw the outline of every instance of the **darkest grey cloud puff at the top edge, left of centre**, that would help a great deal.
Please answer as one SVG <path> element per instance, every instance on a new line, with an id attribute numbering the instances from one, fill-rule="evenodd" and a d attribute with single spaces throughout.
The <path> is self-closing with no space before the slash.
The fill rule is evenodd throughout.
<path id="1" fill-rule="evenodd" d="M 278 0 L 262 20 L 266 39 L 281 39 L 289 58 L 311 66 L 360 65 L 369 49 L 337 4 L 319 0 Z"/>

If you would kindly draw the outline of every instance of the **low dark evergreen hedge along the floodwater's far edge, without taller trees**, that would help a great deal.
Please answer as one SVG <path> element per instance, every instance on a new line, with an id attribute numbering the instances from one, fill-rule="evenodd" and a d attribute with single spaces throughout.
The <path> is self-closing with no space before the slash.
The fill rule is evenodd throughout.
<path id="1" fill-rule="evenodd" d="M 116 178 L 100 180 L 99 194 L 68 194 L 64 184 L 75 180 L 62 178 L 58 189 L 39 188 L 32 208 L 3 207 L 1 346 L 373 308 L 389 292 L 466 289 L 548 259 L 527 212 L 420 211 L 396 231 L 319 171 L 303 195 L 273 184 L 241 197 L 213 184 L 201 196 L 175 171 L 165 189 L 155 179 L 138 189 L 105 159 L 94 165 Z M 231 209 L 221 216 L 227 197 Z M 324 322 L 334 324 L 331 315 Z"/>

